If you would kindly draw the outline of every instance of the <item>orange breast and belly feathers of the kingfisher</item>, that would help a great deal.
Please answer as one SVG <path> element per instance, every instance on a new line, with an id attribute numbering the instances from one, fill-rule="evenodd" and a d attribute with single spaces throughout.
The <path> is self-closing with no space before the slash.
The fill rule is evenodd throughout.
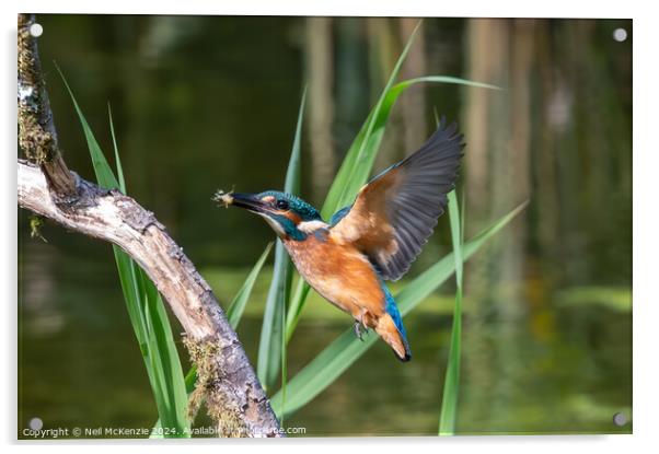
<path id="1" fill-rule="evenodd" d="M 374 328 L 382 316 L 385 296 L 375 271 L 357 248 L 337 242 L 330 231 L 320 240 L 285 241 L 298 271 L 311 287 L 334 305 Z"/>

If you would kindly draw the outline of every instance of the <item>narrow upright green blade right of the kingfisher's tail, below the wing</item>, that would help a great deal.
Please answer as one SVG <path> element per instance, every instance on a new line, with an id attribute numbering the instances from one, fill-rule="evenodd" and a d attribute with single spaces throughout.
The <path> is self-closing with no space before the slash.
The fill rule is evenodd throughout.
<path id="1" fill-rule="evenodd" d="M 453 311 L 453 328 L 451 330 L 451 345 L 449 347 L 449 365 L 447 368 L 441 412 L 439 416 L 439 434 L 452 435 L 455 432 L 455 417 L 458 410 L 458 396 L 460 389 L 460 356 L 462 349 L 462 269 L 464 257 L 462 255 L 462 222 L 455 191 L 449 194 L 449 218 L 451 224 L 451 240 L 453 243 L 453 258 L 455 266 L 455 309 Z"/>

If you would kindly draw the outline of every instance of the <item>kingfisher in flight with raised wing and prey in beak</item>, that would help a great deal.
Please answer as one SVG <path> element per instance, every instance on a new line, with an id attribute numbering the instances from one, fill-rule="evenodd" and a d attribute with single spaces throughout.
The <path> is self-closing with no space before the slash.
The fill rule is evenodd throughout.
<path id="1" fill-rule="evenodd" d="M 300 276 L 352 316 L 358 338 L 373 329 L 409 361 L 403 318 L 384 281 L 405 275 L 427 243 L 454 188 L 463 149 L 456 124 L 442 118 L 419 150 L 362 186 L 330 222 L 299 197 L 276 190 L 218 191 L 213 200 L 264 218 Z"/>

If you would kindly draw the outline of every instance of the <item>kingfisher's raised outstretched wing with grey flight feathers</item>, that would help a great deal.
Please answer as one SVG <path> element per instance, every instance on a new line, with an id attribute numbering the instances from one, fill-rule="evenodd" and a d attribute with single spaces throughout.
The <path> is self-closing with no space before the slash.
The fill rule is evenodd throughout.
<path id="1" fill-rule="evenodd" d="M 375 176 L 332 218 L 332 234 L 366 254 L 383 279 L 400 279 L 444 212 L 463 148 L 458 126 L 442 118 L 417 152 Z"/>

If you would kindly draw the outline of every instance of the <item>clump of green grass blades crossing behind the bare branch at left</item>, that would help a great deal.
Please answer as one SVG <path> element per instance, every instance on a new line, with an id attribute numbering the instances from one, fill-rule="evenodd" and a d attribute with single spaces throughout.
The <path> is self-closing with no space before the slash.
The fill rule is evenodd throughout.
<path id="1" fill-rule="evenodd" d="M 57 69 L 80 119 L 99 184 L 106 188 L 125 189 L 123 172 L 117 181 L 66 78 L 59 68 Z M 117 168 L 120 171 L 112 116 L 109 118 Z M 153 283 L 130 257 L 116 246 L 113 246 L 113 251 L 128 315 L 140 346 L 160 418 L 164 426 L 172 430 L 167 431 L 169 436 L 189 436 L 185 382 L 162 300 Z"/>

